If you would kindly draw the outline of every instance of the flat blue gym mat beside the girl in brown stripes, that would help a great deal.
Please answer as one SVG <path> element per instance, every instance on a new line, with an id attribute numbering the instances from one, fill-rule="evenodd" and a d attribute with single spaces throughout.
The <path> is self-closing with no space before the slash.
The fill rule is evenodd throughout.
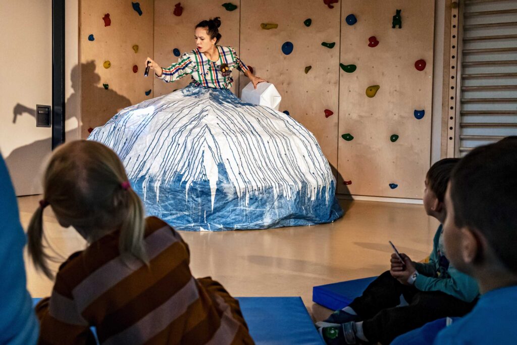
<path id="1" fill-rule="evenodd" d="M 36 305 L 41 298 L 33 298 Z M 237 297 L 257 345 L 324 345 L 300 297 Z"/>

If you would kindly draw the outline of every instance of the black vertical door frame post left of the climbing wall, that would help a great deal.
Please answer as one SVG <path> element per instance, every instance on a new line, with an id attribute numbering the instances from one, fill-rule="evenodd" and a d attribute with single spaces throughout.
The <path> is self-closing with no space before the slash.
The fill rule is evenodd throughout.
<path id="1" fill-rule="evenodd" d="M 65 0 L 52 0 L 52 149 L 65 142 Z"/>

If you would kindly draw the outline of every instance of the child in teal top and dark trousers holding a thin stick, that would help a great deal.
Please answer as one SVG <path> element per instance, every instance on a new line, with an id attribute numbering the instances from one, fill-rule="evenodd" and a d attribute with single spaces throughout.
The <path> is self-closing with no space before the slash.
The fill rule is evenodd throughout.
<path id="1" fill-rule="evenodd" d="M 444 196 L 457 162 L 455 158 L 442 159 L 425 177 L 424 209 L 440 222 L 429 263 L 413 262 L 405 254 L 401 254 L 401 262 L 393 253 L 390 271 L 375 279 L 349 306 L 316 324 L 328 344 L 389 344 L 429 321 L 462 316 L 473 308 L 479 294 L 477 283 L 449 264 L 443 248 Z M 407 306 L 397 307 L 400 295 Z"/>

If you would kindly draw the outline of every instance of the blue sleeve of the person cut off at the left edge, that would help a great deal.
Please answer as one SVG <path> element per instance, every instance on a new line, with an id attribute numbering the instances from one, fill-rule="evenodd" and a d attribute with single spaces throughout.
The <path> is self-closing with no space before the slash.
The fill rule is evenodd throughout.
<path id="1" fill-rule="evenodd" d="M 35 344 L 39 326 L 26 288 L 25 234 L 4 159 L 0 155 L 0 344 Z"/>

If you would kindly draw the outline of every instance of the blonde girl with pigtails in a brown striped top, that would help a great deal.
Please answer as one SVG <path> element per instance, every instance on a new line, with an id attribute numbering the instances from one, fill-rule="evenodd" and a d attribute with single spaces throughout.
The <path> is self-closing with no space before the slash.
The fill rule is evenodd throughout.
<path id="1" fill-rule="evenodd" d="M 59 267 L 52 295 L 36 306 L 44 344 L 253 344 L 239 303 L 210 278 L 194 279 L 189 249 L 162 220 L 144 219 L 116 154 L 93 141 L 59 147 L 28 229 L 36 267 L 51 277 L 42 213 L 72 226 L 88 247 Z"/>

